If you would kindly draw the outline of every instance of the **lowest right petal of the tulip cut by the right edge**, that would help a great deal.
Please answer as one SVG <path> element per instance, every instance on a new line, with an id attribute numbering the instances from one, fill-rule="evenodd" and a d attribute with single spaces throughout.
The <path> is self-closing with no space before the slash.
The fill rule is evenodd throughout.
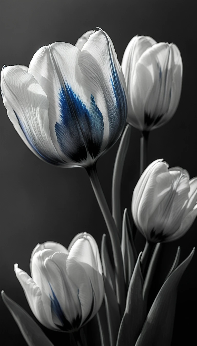
<path id="1" fill-rule="evenodd" d="M 186 217 L 183 219 L 179 229 L 174 233 L 171 234 L 167 239 L 166 242 L 172 242 L 173 240 L 177 240 L 184 236 L 184 234 L 187 233 L 191 225 L 193 224 L 195 218 L 197 216 L 197 205 L 194 207 L 193 210 L 191 210 Z"/>

